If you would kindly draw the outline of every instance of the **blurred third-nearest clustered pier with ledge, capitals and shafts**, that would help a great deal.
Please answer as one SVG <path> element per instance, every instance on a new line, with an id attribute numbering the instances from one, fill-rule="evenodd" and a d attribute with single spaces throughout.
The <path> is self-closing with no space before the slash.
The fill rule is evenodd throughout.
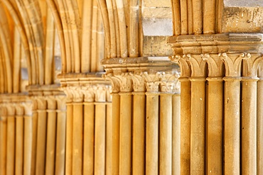
<path id="1" fill-rule="evenodd" d="M 106 174 L 109 82 L 93 74 L 70 76 L 60 81 L 67 96 L 65 173 Z"/>

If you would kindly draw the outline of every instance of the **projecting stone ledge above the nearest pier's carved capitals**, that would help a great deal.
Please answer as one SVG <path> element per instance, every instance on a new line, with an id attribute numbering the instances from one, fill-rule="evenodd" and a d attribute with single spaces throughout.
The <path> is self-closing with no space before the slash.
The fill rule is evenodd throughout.
<path id="1" fill-rule="evenodd" d="M 262 52 L 262 33 L 173 35 L 167 39 L 175 55 L 219 52 Z"/>

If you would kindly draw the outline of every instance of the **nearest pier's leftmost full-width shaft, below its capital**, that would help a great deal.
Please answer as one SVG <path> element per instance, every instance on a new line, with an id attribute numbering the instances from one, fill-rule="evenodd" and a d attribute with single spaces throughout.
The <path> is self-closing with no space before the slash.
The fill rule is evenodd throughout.
<path id="1" fill-rule="evenodd" d="M 205 79 L 191 81 L 190 174 L 205 174 Z"/>

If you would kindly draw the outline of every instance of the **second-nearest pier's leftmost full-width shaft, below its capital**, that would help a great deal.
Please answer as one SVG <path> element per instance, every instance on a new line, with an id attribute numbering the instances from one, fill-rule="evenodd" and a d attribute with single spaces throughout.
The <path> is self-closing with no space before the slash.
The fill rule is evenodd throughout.
<path id="1" fill-rule="evenodd" d="M 119 174 L 132 173 L 132 93 L 119 93 Z"/>

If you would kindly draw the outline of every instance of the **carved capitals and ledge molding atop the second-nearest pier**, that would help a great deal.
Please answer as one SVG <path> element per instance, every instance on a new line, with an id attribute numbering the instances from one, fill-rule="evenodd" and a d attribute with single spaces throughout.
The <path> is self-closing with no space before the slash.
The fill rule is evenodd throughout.
<path id="1" fill-rule="evenodd" d="M 180 93 L 179 67 L 173 62 L 150 61 L 147 57 L 102 60 L 112 82 L 112 92 Z"/>

